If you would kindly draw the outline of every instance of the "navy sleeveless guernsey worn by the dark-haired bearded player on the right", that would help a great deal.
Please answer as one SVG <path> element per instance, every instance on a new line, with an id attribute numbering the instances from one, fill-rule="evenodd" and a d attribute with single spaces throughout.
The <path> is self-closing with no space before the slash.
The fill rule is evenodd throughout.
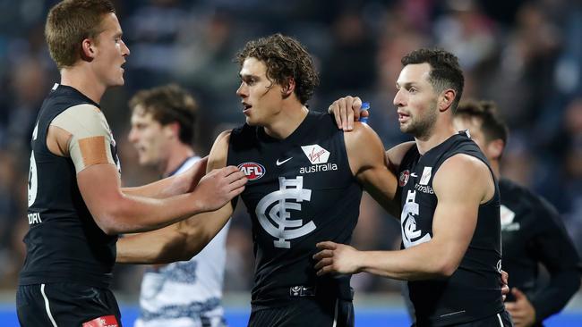
<path id="1" fill-rule="evenodd" d="M 479 147 L 463 132 L 424 155 L 414 146 L 404 156 L 398 171 L 403 247 L 415 247 L 432 239 L 432 219 L 438 202 L 432 180 L 441 164 L 458 154 L 475 156 L 489 166 Z M 494 196 L 479 206 L 473 239 L 457 271 L 446 279 L 408 282 L 418 326 L 468 323 L 503 311 L 500 269 L 500 196 L 495 182 Z"/>

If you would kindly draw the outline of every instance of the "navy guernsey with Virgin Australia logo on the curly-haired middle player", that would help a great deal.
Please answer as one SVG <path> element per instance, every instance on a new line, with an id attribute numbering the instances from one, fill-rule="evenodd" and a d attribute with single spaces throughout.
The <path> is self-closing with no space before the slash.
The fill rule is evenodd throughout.
<path id="1" fill-rule="evenodd" d="M 349 277 L 317 277 L 312 259 L 317 242 L 350 242 L 362 197 L 333 118 L 308 113 L 283 140 L 244 125 L 231 133 L 227 163 L 249 178 L 241 197 L 252 217 L 253 310 L 287 305 L 293 289 L 350 298 Z"/>

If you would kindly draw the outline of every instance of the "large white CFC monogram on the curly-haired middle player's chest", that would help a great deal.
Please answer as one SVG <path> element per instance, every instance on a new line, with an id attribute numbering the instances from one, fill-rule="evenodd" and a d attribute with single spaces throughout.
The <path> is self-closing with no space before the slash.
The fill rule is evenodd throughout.
<path id="1" fill-rule="evenodd" d="M 277 238 L 274 241 L 275 247 L 291 248 L 291 242 L 287 239 L 296 239 L 315 231 L 315 223 L 312 221 L 304 224 L 303 219 L 289 219 L 289 210 L 300 212 L 301 202 L 312 198 L 312 190 L 304 189 L 303 176 L 288 180 L 279 177 L 278 186 L 278 190 L 261 198 L 255 213 L 262 228 Z"/>

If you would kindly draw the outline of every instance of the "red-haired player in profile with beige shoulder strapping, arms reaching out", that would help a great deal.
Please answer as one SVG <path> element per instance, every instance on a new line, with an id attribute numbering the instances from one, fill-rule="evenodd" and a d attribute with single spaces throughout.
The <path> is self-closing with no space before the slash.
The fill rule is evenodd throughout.
<path id="1" fill-rule="evenodd" d="M 228 167 L 200 180 L 201 162 L 175 178 L 122 189 L 116 142 L 99 109 L 107 88 L 124 84 L 129 55 L 113 5 L 56 4 L 46 38 L 61 81 L 40 108 L 31 139 L 18 317 L 22 326 L 117 326 L 119 308 L 108 289 L 116 235 L 217 209 L 244 189 L 244 174 Z"/>

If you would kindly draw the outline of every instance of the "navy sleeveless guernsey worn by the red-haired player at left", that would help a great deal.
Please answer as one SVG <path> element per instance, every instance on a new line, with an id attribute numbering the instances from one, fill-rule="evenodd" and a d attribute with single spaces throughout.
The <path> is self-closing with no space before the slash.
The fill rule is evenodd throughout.
<path id="1" fill-rule="evenodd" d="M 76 89 L 59 85 L 40 108 L 30 142 L 30 230 L 24 237 L 27 254 L 20 285 L 76 282 L 107 288 L 111 281 L 117 237 L 107 236 L 93 220 L 77 186 L 71 158 L 54 155 L 47 147 L 48 127 L 55 117 L 83 104 L 98 107 Z M 114 145 L 112 154 L 117 160 Z M 31 194 L 36 197 L 30 198 Z"/>

